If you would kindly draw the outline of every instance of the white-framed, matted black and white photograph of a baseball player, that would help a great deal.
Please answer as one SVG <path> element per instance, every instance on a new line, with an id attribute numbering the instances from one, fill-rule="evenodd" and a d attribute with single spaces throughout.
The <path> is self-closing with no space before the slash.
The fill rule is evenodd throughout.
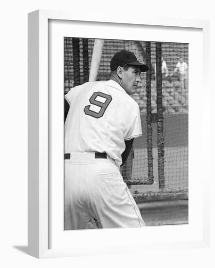
<path id="1" fill-rule="evenodd" d="M 209 22 L 28 25 L 28 253 L 207 247 Z"/>

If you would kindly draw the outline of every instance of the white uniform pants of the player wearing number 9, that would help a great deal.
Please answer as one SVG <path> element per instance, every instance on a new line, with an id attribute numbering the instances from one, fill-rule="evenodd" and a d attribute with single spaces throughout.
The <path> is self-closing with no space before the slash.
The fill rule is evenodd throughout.
<path id="1" fill-rule="evenodd" d="M 85 229 L 90 219 L 102 228 L 145 226 L 119 168 L 95 153 L 71 153 L 65 160 L 64 230 Z"/>

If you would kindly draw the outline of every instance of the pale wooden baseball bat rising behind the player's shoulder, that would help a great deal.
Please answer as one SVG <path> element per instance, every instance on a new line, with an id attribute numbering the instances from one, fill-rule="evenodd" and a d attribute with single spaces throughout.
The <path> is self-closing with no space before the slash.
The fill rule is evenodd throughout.
<path id="1" fill-rule="evenodd" d="M 96 80 L 102 57 L 103 45 L 104 45 L 103 39 L 95 39 L 92 52 L 92 60 L 90 65 L 89 82 L 93 82 Z"/>

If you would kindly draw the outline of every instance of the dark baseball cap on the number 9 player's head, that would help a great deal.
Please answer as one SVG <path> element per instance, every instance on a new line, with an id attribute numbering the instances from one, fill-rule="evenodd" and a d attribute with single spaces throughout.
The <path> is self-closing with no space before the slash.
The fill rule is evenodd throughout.
<path id="1" fill-rule="evenodd" d="M 133 52 L 121 50 L 117 52 L 110 61 L 110 70 L 114 71 L 119 66 L 133 65 L 138 66 L 141 72 L 147 72 L 149 67 L 139 62 Z"/>

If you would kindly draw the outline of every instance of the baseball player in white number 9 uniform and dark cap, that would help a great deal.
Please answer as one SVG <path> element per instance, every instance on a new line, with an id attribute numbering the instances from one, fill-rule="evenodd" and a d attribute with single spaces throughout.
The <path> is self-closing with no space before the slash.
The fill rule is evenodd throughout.
<path id="1" fill-rule="evenodd" d="M 64 230 L 145 226 L 120 174 L 142 135 L 138 104 L 131 98 L 148 66 L 129 51 L 110 61 L 110 80 L 88 82 L 65 95 Z"/>

